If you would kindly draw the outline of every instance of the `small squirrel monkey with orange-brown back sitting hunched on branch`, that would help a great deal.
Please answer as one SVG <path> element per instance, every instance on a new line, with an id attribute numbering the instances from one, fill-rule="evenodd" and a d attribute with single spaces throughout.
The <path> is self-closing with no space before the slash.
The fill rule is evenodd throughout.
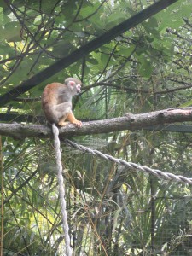
<path id="1" fill-rule="evenodd" d="M 72 97 L 81 92 L 81 84 L 79 79 L 67 78 L 64 84 L 52 83 L 44 88 L 42 108 L 50 124 L 64 126 L 68 120 L 78 127 L 82 126 L 72 112 Z"/>

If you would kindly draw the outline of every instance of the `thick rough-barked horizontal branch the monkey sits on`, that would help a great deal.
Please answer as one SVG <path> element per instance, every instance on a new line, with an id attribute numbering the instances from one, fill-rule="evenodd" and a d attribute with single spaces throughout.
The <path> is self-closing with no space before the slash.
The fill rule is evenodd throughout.
<path id="1" fill-rule="evenodd" d="M 83 123 L 81 128 L 66 125 L 60 129 L 60 137 L 108 133 L 124 130 L 142 130 L 151 125 L 165 125 L 192 121 L 192 108 L 169 108 L 150 113 L 127 113 L 123 117 Z M 23 139 L 26 137 L 52 137 L 51 128 L 45 125 L 0 123 L 0 135 Z"/>

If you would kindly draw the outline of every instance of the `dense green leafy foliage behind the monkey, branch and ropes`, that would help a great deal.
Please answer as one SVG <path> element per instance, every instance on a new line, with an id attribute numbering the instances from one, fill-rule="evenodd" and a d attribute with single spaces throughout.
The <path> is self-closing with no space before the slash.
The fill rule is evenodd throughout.
<path id="1" fill-rule="evenodd" d="M 1 96 L 154 1 L 1 1 Z M 42 115 L 44 86 L 75 76 L 79 119 L 191 106 L 191 2 L 177 1 L 0 109 Z M 27 100 L 27 101 L 26 101 Z M 23 115 L 22 115 L 23 117 Z M 15 119 L 13 118 L 12 121 Z M 191 177 L 189 133 L 121 131 L 75 139 L 103 153 Z M 64 255 L 52 140 L 2 137 L 4 255 Z M 76 255 L 191 255 L 191 186 L 62 145 Z"/>

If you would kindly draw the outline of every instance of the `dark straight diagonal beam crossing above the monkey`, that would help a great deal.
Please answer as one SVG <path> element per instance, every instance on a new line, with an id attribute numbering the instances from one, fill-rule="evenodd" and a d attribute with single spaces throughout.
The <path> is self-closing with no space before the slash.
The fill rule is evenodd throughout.
<path id="1" fill-rule="evenodd" d="M 79 59 L 83 58 L 85 55 L 88 55 L 91 51 L 98 49 L 103 44 L 107 44 L 109 41 L 116 38 L 120 34 L 128 31 L 133 26 L 137 26 L 139 23 L 143 22 L 143 20 L 146 20 L 152 15 L 155 15 L 162 9 L 166 9 L 169 5 L 175 2 L 177 2 L 177 0 L 160 0 L 148 8 L 143 9 L 137 13 L 137 15 L 133 15 L 130 19 L 127 19 L 121 22 L 119 25 L 114 26 L 107 32 L 104 32 L 98 38 L 95 38 L 88 44 L 85 44 L 79 49 L 74 50 L 70 55 L 67 55 L 67 57 L 62 58 L 60 61 L 56 61 L 54 64 L 45 68 L 43 71 L 35 74 L 31 79 L 24 81 L 14 89 L 9 90 L 3 96 L 0 96 L 0 106 L 2 107 L 4 104 L 13 100 L 15 97 L 18 97 L 20 94 L 23 94 L 27 90 L 32 89 L 34 86 L 40 84 L 45 79 L 49 79 L 49 77 L 55 75 L 55 73 L 60 72 L 63 68 L 68 67 L 75 61 L 79 61 Z"/>

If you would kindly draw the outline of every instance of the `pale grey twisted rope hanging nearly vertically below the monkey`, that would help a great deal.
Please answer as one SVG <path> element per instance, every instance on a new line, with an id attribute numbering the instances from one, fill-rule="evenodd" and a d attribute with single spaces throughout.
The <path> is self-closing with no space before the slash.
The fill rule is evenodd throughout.
<path id="1" fill-rule="evenodd" d="M 62 164 L 61 164 L 61 148 L 60 148 L 60 139 L 59 139 L 59 129 L 55 124 L 52 124 L 52 131 L 54 135 L 54 148 L 55 148 L 55 158 L 56 158 L 56 168 L 57 168 L 57 178 L 59 184 L 59 195 L 61 203 L 61 214 L 62 214 L 62 228 L 64 231 L 64 238 L 66 242 L 66 254 L 71 256 L 73 251 L 70 247 L 70 236 L 68 232 L 67 224 L 67 210 L 66 210 L 66 201 L 65 201 L 65 187 L 62 177 Z"/>

